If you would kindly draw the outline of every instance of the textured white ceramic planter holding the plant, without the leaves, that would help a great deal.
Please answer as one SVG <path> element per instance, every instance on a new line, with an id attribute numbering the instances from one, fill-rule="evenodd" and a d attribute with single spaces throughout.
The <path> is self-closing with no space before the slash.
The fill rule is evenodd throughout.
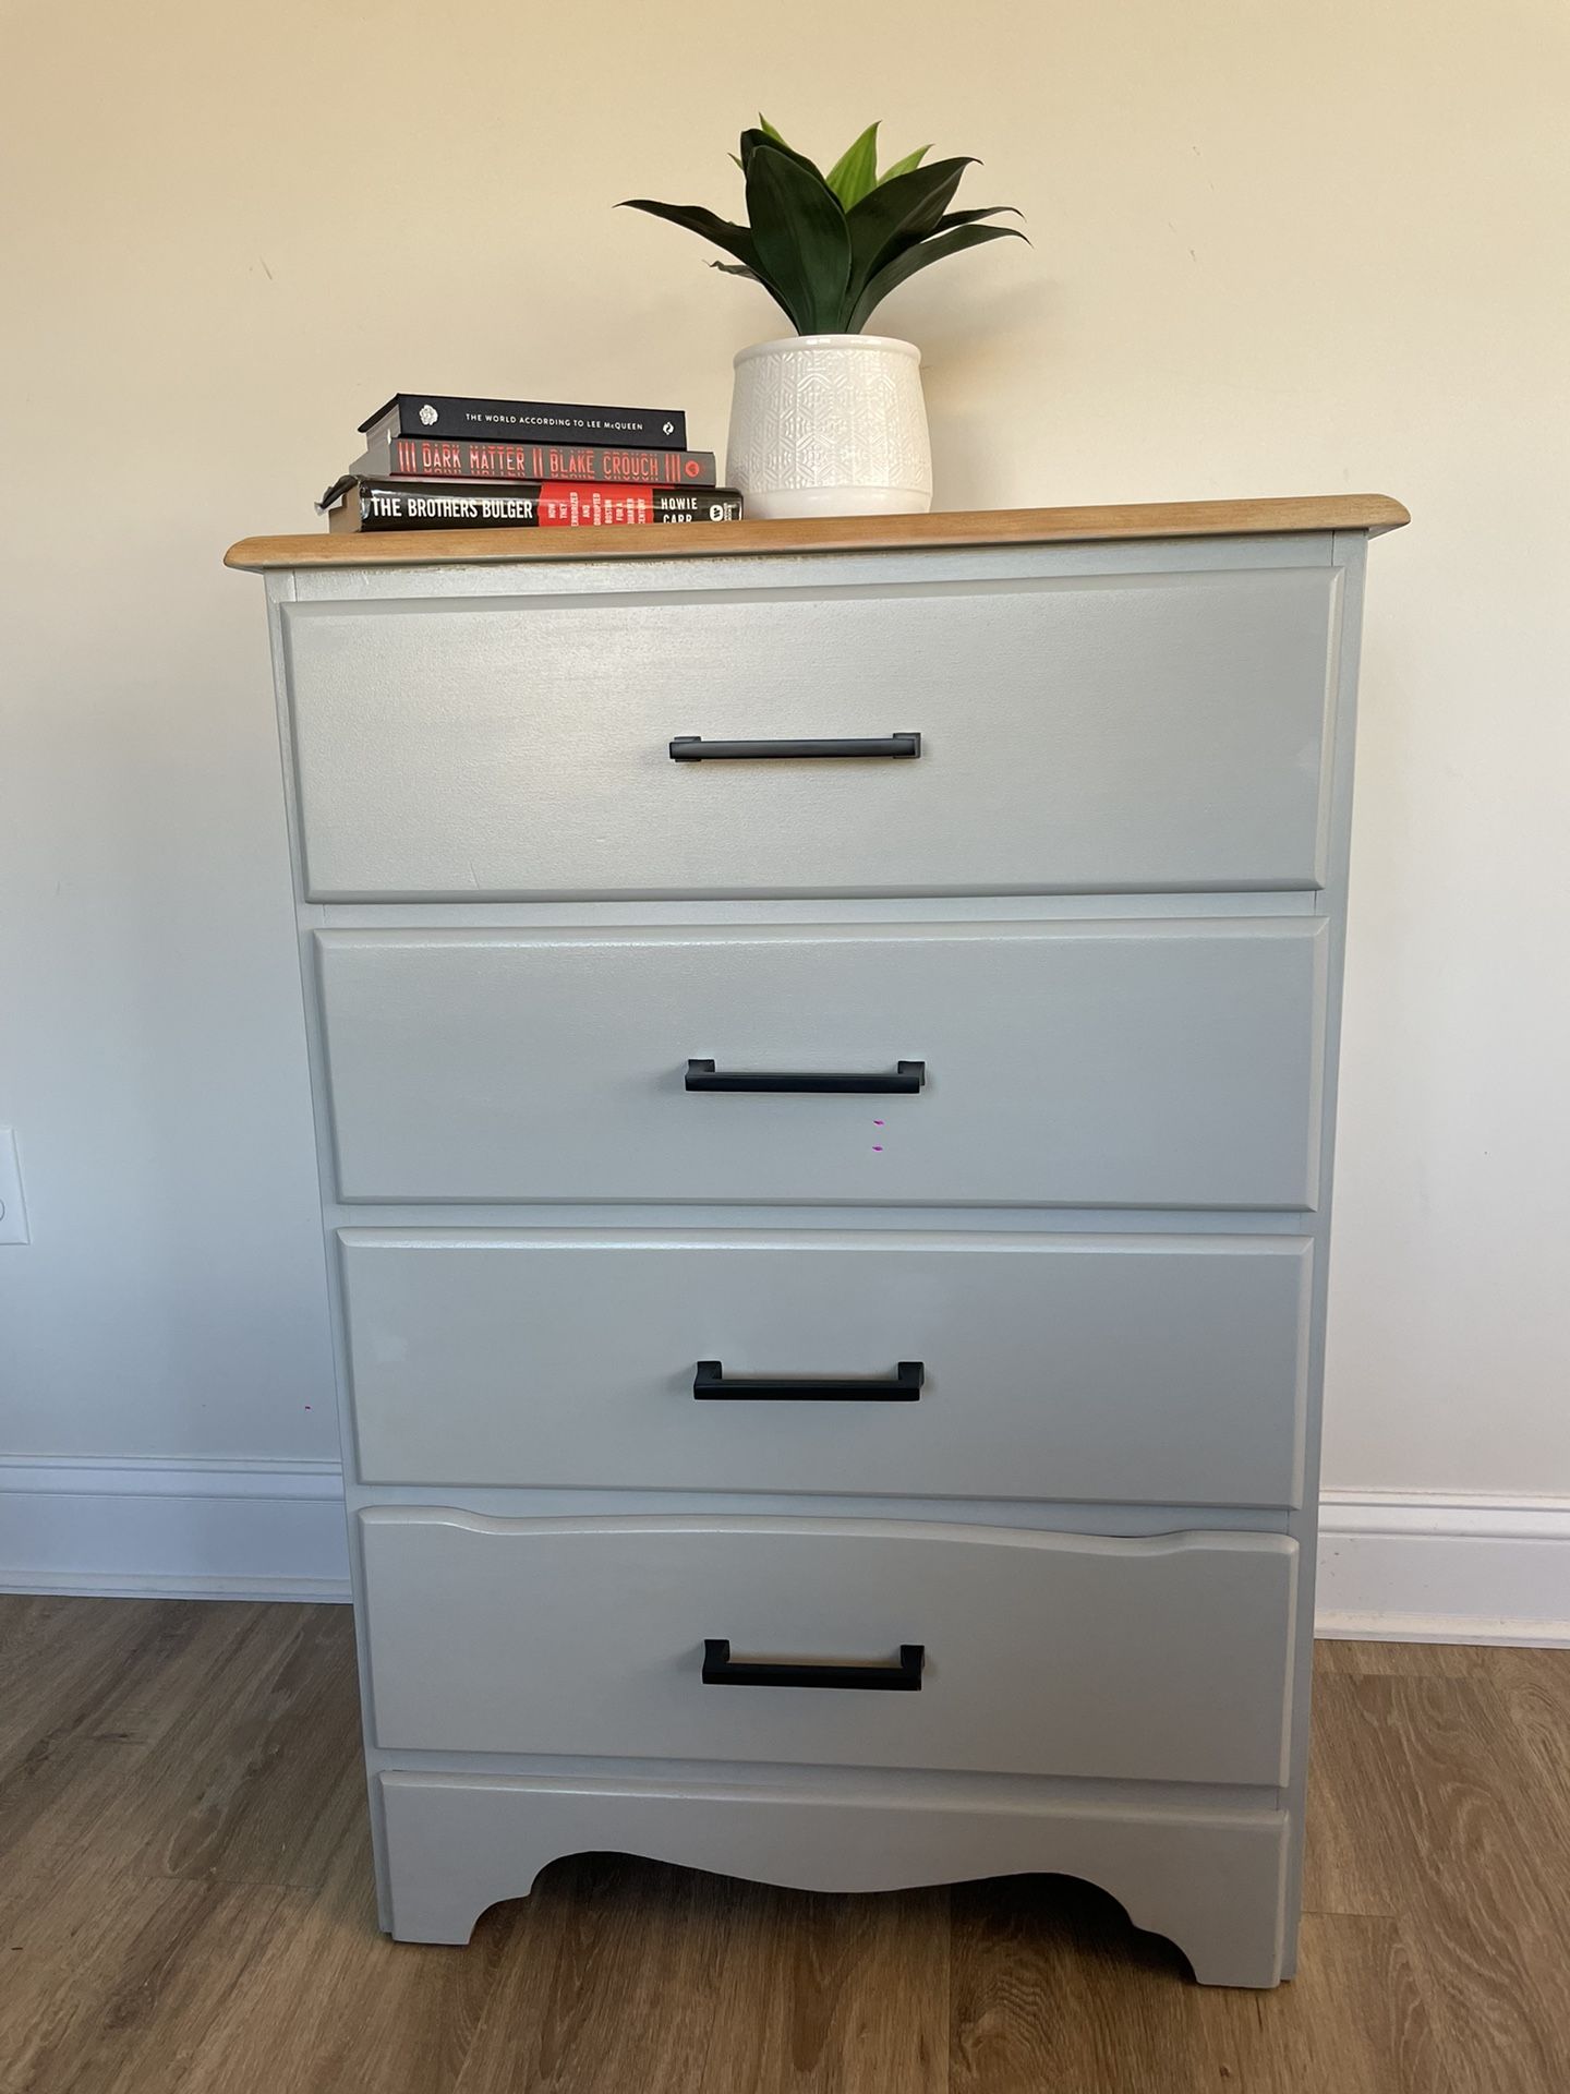
<path id="1" fill-rule="evenodd" d="M 932 509 L 921 350 L 888 335 L 789 335 L 741 350 L 726 480 L 749 517 Z"/>

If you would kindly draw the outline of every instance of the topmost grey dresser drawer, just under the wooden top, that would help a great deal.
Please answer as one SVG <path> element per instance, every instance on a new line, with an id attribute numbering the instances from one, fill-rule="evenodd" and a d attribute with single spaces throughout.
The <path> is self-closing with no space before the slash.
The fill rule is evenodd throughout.
<path id="1" fill-rule="evenodd" d="M 1319 884 L 1338 570 L 942 565 L 917 586 L 285 605 L 306 892 Z M 921 754 L 670 756 L 892 733 Z"/>

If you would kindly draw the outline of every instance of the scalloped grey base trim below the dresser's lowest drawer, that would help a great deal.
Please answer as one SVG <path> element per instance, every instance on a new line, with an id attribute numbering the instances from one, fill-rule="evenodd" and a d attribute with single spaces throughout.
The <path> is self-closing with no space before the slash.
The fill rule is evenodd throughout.
<path id="1" fill-rule="evenodd" d="M 1176 1943 L 1202 1985 L 1289 1977 L 1281 1811 L 856 1803 L 779 1786 L 383 1774 L 385 1924 L 465 1943 L 569 1853 L 632 1853 L 802 1891 L 900 1891 L 1047 1872 L 1107 1891 Z"/>

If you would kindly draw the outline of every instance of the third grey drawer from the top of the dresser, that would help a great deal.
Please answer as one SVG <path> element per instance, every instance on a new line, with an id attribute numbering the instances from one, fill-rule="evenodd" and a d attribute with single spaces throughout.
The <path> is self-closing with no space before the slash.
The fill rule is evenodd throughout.
<path id="1" fill-rule="evenodd" d="M 345 1229 L 360 1476 L 1296 1506 L 1310 1250 Z"/>

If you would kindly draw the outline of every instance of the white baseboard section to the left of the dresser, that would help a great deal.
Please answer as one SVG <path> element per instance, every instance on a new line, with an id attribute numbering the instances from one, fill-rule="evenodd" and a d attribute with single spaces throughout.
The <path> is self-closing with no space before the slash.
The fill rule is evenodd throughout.
<path id="1" fill-rule="evenodd" d="M 0 1457 L 0 1591 L 347 1600 L 339 1466 Z"/>

